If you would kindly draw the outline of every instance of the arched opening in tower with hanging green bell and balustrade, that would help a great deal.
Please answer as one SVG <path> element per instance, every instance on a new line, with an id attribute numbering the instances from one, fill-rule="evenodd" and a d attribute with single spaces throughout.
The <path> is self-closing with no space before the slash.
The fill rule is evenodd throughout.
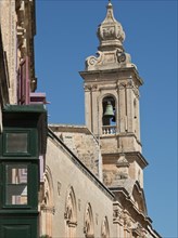
<path id="1" fill-rule="evenodd" d="M 103 134 L 115 134 L 116 132 L 116 104 L 113 96 L 105 96 L 102 101 L 102 124 Z"/>

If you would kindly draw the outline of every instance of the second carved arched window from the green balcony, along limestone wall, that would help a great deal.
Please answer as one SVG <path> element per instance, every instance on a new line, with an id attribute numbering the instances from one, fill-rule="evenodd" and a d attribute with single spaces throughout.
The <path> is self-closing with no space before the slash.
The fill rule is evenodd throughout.
<path id="1" fill-rule="evenodd" d="M 76 198 L 73 187 L 69 187 L 69 189 L 67 190 L 64 217 L 65 217 L 66 237 L 67 238 L 76 237 L 77 208 L 76 208 Z"/>

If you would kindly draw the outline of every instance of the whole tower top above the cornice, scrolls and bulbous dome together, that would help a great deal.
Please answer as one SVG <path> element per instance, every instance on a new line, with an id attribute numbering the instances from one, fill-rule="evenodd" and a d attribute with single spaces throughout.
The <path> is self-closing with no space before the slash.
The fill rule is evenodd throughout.
<path id="1" fill-rule="evenodd" d="M 106 5 L 106 16 L 98 26 L 97 35 L 100 41 L 97 56 L 91 55 L 86 58 L 86 71 L 124 67 L 136 68 L 131 64 L 130 55 L 124 50 L 125 32 L 122 24 L 114 17 L 113 5 L 110 1 Z"/>

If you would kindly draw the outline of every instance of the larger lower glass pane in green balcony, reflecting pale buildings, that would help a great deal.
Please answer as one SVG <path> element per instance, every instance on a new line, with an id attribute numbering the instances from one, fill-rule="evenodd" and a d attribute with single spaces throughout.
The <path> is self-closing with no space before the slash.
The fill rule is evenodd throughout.
<path id="1" fill-rule="evenodd" d="M 7 203 L 27 204 L 27 164 L 7 164 Z"/>

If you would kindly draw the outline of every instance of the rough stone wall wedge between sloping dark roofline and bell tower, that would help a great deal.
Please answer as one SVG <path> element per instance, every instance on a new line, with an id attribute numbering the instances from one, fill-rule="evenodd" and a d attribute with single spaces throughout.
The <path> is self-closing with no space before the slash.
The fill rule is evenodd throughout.
<path id="1" fill-rule="evenodd" d="M 99 175 L 101 151 L 94 135 L 85 125 L 54 125 L 50 128 L 94 175 Z"/>

